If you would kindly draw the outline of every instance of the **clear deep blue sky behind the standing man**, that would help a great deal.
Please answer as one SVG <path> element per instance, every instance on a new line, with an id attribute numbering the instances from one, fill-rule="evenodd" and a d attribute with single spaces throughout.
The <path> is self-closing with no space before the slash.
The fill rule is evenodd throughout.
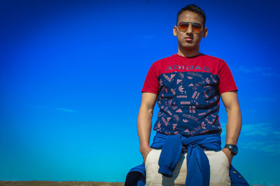
<path id="1" fill-rule="evenodd" d="M 143 161 L 146 73 L 176 54 L 176 13 L 195 3 L 209 29 L 200 52 L 225 60 L 239 89 L 232 164 L 251 185 L 280 184 L 276 2 L 1 0 L 0 180 L 124 182 Z M 219 116 L 224 146 L 222 102 Z"/>

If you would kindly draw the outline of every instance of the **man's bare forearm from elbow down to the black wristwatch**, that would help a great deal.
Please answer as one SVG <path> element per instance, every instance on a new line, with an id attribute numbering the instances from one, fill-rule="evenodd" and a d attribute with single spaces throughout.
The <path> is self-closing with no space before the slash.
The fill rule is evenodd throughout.
<path id="1" fill-rule="evenodd" d="M 241 131 L 241 111 L 239 108 L 227 110 L 228 121 L 226 126 L 226 141 L 225 144 L 237 145 L 239 134 Z"/>

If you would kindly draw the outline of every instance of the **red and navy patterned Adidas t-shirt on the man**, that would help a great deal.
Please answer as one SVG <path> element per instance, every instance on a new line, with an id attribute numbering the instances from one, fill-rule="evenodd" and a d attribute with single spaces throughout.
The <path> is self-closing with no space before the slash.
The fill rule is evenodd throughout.
<path id="1" fill-rule="evenodd" d="M 221 134 L 220 94 L 237 91 L 230 68 L 222 59 L 200 54 L 174 54 L 151 65 L 141 92 L 158 94 L 158 120 L 153 130 L 162 134 Z"/>

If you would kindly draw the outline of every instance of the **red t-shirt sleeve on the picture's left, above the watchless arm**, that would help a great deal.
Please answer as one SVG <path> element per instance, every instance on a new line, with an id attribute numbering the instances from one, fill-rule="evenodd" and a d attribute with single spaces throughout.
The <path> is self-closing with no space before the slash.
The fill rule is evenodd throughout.
<path id="1" fill-rule="evenodd" d="M 157 70 L 155 67 L 155 63 L 153 63 L 150 70 L 148 70 L 148 73 L 146 75 L 146 79 L 144 82 L 144 86 L 143 86 L 141 92 L 158 94 L 158 88 L 159 88 L 159 84 L 158 84 Z"/>

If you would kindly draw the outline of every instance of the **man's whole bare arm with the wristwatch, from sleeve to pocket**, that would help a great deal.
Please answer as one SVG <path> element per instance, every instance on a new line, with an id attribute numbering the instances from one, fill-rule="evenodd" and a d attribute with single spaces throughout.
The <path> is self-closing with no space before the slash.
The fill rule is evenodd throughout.
<path id="1" fill-rule="evenodd" d="M 225 105 L 225 110 L 228 115 L 225 144 L 237 145 L 242 123 L 237 92 L 230 91 L 222 93 L 221 99 L 223 100 L 223 104 Z M 228 156 L 228 160 L 231 164 L 232 153 L 230 152 L 230 149 L 223 148 L 223 152 Z"/>

